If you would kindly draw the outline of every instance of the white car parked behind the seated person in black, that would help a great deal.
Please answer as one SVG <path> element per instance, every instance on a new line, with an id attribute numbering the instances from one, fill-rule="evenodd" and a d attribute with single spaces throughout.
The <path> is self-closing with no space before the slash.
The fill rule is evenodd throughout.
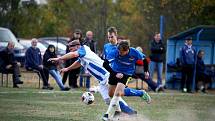
<path id="1" fill-rule="evenodd" d="M 40 43 L 42 43 L 44 46 L 48 48 L 50 44 L 54 45 L 56 48 L 56 54 L 57 55 L 64 55 L 66 53 L 66 45 L 62 43 L 57 43 L 55 41 L 49 41 L 49 40 L 39 40 Z"/>

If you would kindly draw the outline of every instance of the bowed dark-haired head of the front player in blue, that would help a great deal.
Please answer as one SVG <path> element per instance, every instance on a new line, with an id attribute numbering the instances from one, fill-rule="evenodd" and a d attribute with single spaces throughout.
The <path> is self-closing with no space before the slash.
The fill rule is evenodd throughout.
<path id="1" fill-rule="evenodd" d="M 129 43 L 127 40 L 122 40 L 118 45 L 119 55 L 124 56 L 129 52 Z"/>

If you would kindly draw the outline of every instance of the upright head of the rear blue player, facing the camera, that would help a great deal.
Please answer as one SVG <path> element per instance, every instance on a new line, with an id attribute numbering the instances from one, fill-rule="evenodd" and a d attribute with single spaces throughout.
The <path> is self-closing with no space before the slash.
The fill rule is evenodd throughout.
<path id="1" fill-rule="evenodd" d="M 117 44 L 117 29 L 115 27 L 108 28 L 108 41 Z"/>

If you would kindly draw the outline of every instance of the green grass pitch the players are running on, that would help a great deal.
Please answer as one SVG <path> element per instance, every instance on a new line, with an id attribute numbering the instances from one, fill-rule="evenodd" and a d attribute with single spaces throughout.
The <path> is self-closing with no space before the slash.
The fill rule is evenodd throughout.
<path id="1" fill-rule="evenodd" d="M 69 92 L 0 87 L 1 121 L 99 121 L 107 106 L 95 94 L 95 103 L 85 105 L 82 89 Z M 148 105 L 138 97 L 125 97 L 138 111 L 132 121 L 214 121 L 215 95 L 150 93 Z M 125 120 L 125 119 L 124 119 Z"/>

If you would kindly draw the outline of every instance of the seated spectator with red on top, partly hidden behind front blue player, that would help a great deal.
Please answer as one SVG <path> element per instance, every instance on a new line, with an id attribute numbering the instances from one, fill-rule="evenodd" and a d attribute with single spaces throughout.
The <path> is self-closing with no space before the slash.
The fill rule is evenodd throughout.
<path id="1" fill-rule="evenodd" d="M 143 49 L 141 47 L 137 47 L 136 50 L 143 54 Z M 155 92 L 164 91 L 163 86 L 157 85 L 155 82 L 153 82 L 151 78 L 148 79 L 145 78 L 143 66 L 146 66 L 145 68 L 148 68 L 148 63 L 149 62 L 147 61 L 146 56 L 143 54 L 143 61 L 136 62 L 135 77 L 145 81 L 148 84 L 148 86 Z"/>

